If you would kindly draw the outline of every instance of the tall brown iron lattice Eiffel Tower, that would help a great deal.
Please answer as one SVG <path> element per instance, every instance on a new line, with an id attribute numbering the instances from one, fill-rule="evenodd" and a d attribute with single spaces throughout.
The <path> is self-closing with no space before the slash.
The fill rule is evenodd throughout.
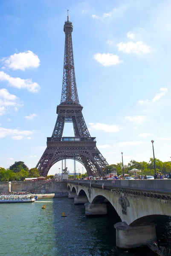
<path id="1" fill-rule="evenodd" d="M 64 24 L 65 50 L 61 103 L 57 106 L 58 117 L 52 137 L 47 137 L 47 147 L 36 166 L 44 177 L 55 163 L 63 159 L 73 159 L 82 163 L 88 176 L 94 176 L 93 172 L 96 176 L 104 176 L 103 169 L 108 165 L 96 147 L 96 137 L 90 136 L 82 114 L 83 107 L 79 103 L 74 70 L 72 30 L 68 11 L 67 21 Z M 65 122 L 73 123 L 75 137 L 62 137 Z"/>

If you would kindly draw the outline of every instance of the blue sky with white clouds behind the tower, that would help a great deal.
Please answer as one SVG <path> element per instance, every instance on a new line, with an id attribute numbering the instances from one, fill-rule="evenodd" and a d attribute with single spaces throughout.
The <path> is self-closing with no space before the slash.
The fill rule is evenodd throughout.
<path id="1" fill-rule="evenodd" d="M 171 160 L 171 1 L 0 1 L 0 166 L 35 167 L 61 100 L 64 21 L 78 97 L 109 164 Z M 64 136 L 73 136 L 66 124 Z M 73 172 L 73 161 L 67 160 Z M 61 168 L 56 163 L 49 171 Z M 82 165 L 76 163 L 82 172 Z"/>

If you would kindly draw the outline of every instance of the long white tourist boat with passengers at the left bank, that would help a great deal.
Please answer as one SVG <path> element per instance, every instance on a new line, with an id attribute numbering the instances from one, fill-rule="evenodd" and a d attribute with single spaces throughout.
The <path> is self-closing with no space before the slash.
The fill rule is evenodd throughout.
<path id="1" fill-rule="evenodd" d="M 0 203 L 32 203 L 35 198 L 32 194 L 27 195 L 0 195 Z"/>

